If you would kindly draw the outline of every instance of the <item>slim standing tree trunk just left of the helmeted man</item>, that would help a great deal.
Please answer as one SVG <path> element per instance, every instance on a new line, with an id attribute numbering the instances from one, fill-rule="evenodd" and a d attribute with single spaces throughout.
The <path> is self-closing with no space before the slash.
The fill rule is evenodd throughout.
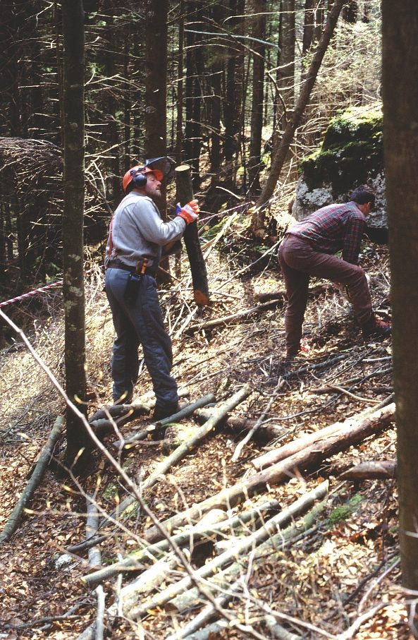
<path id="1" fill-rule="evenodd" d="M 85 292 L 83 219 L 85 198 L 84 118 L 84 11 L 82 0 L 64 0 L 64 208 L 63 208 L 63 298 L 65 314 L 66 392 L 72 402 L 85 400 Z M 85 413 L 85 406 L 80 405 Z M 80 419 L 67 409 L 65 464 L 78 459 L 82 468 L 90 440 Z"/>

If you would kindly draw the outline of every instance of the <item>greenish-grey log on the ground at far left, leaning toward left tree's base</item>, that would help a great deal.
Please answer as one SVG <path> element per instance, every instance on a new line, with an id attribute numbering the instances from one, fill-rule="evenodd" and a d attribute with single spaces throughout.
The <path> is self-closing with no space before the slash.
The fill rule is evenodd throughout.
<path id="1" fill-rule="evenodd" d="M 47 444 L 44 446 L 41 454 L 39 455 L 39 460 L 37 461 L 32 476 L 30 476 L 30 481 L 27 483 L 18 502 L 16 502 L 13 511 L 8 517 L 6 524 L 4 525 L 3 531 L 1 531 L 0 533 L 0 544 L 10 540 L 11 536 L 18 528 L 18 524 L 23 515 L 23 511 L 30 501 L 32 495 L 39 487 L 42 478 L 44 477 L 44 473 L 48 468 L 49 461 L 51 460 L 51 456 L 54 453 L 54 447 L 59 439 L 59 436 L 62 433 L 63 423 L 63 416 L 58 416 L 58 418 L 56 418 L 56 421 L 54 422 L 51 433 L 49 434 Z"/>

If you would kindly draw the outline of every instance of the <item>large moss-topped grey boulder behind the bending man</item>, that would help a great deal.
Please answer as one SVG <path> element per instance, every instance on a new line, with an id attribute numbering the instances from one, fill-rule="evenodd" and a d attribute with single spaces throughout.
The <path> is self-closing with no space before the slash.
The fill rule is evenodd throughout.
<path id="1" fill-rule="evenodd" d="M 324 142 L 300 163 L 292 215 L 297 219 L 319 207 L 346 202 L 351 191 L 369 184 L 376 193 L 368 224 L 386 226 L 381 103 L 350 107 L 331 120 Z"/>

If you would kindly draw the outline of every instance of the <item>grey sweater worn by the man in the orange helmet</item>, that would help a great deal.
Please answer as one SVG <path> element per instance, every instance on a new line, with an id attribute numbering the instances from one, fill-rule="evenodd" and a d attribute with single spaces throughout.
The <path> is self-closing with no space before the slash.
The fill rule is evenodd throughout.
<path id="1" fill-rule="evenodd" d="M 130 267 L 135 267 L 138 260 L 144 258 L 148 259 L 148 266 L 156 266 L 161 258 L 161 247 L 179 240 L 185 228 L 185 220 L 178 216 L 163 222 L 151 198 L 131 191 L 113 214 L 106 255 L 111 259 L 119 258 Z"/>

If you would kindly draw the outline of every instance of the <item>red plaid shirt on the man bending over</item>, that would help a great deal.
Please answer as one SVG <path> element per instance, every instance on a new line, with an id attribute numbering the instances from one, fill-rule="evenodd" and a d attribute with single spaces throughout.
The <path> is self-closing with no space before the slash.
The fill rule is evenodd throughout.
<path id="1" fill-rule="evenodd" d="M 357 265 L 366 227 L 366 218 L 356 203 L 350 202 L 322 207 L 290 227 L 288 233 L 307 239 L 320 253 L 343 250 L 343 260 Z"/>

